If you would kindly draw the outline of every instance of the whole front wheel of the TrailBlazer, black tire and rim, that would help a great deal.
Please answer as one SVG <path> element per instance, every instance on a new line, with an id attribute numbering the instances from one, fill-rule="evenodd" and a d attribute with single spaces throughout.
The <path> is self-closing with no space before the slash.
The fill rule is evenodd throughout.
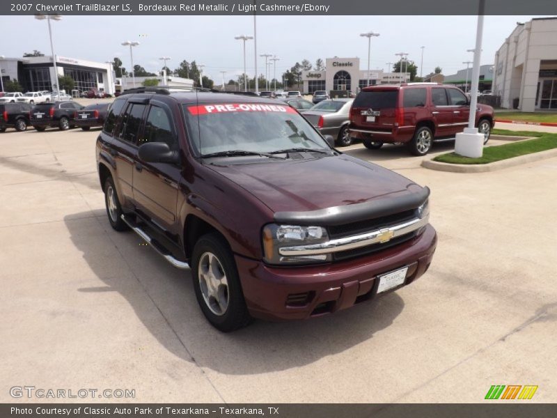
<path id="1" fill-rule="evenodd" d="M 199 307 L 217 330 L 230 332 L 251 322 L 232 251 L 218 233 L 196 242 L 191 277 Z"/>

